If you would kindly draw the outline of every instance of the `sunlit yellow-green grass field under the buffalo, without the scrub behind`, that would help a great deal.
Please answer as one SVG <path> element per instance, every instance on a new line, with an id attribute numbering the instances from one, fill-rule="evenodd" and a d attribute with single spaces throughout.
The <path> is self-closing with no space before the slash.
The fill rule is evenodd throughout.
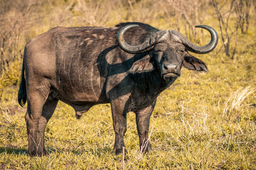
<path id="1" fill-rule="evenodd" d="M 140 153 L 135 115 L 127 115 L 125 169 L 256 169 L 255 20 L 250 24 L 237 38 L 234 59 L 218 52 L 220 41 L 213 52 L 197 55 L 207 73 L 182 68 L 180 78 L 157 98 L 149 153 Z M 123 168 L 122 155 L 112 153 L 109 104 L 93 106 L 77 120 L 70 106 L 58 103 L 45 130 L 49 155 L 29 157 L 26 106 L 17 103 L 17 85 L 4 85 L 13 74 L 19 77 L 20 60 L 10 67 L 1 78 L 0 169 Z"/>

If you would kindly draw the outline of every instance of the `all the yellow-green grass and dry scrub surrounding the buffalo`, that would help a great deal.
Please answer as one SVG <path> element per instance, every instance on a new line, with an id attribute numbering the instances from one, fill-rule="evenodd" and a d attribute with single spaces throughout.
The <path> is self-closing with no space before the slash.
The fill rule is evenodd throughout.
<path id="1" fill-rule="evenodd" d="M 17 90 L 29 39 L 56 26 L 133 21 L 175 29 L 198 45 L 210 36 L 195 25 L 210 25 L 219 43 L 202 55 L 208 73 L 182 69 L 158 97 L 148 155 L 139 152 L 135 118 L 129 115 L 125 167 L 256 169 L 255 13 L 255 0 L 0 0 L 0 169 L 122 168 L 122 158 L 111 153 L 109 104 L 76 120 L 72 108 L 59 103 L 45 130 L 49 156 L 28 157 L 26 107 L 18 106 Z"/>

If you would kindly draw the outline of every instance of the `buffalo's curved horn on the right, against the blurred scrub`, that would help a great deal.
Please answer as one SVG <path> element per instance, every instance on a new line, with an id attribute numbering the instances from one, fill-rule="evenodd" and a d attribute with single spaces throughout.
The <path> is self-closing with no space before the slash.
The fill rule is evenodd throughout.
<path id="1" fill-rule="evenodd" d="M 214 48 L 218 44 L 217 32 L 212 27 L 210 27 L 208 25 L 196 25 L 195 27 L 203 28 L 203 29 L 206 29 L 207 31 L 209 31 L 211 33 L 211 41 L 210 41 L 210 43 L 208 43 L 205 46 L 197 46 L 197 45 L 193 44 L 191 41 L 189 41 L 188 38 L 186 38 L 186 36 L 184 36 L 182 34 L 182 36 L 180 38 L 182 40 L 182 43 L 184 45 L 186 45 L 186 49 L 193 53 L 209 53 L 212 50 L 214 50 Z"/>

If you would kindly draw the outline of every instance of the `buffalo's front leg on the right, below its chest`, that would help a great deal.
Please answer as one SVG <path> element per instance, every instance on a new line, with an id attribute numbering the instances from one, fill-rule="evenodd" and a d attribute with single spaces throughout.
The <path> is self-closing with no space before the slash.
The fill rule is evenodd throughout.
<path id="1" fill-rule="evenodd" d="M 148 139 L 148 127 L 150 122 L 150 116 L 154 110 L 155 103 L 143 110 L 136 111 L 136 125 L 137 131 L 140 138 L 140 150 L 141 152 L 148 152 L 148 149 L 151 148 L 149 139 Z"/>

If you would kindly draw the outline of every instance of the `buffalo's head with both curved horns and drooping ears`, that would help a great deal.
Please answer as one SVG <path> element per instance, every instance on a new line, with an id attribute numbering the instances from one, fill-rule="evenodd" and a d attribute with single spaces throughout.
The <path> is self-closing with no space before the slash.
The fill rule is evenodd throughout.
<path id="1" fill-rule="evenodd" d="M 186 38 L 183 34 L 174 30 L 158 31 L 144 43 L 138 46 L 132 46 L 125 42 L 124 33 L 131 27 L 139 25 L 125 25 L 117 34 L 120 48 L 128 53 L 141 53 L 150 51 L 148 55 L 142 59 L 134 62 L 130 71 L 133 73 L 145 72 L 157 69 L 164 80 L 176 78 L 180 76 L 180 69 L 182 65 L 187 69 L 196 71 L 207 71 L 204 62 L 197 59 L 189 52 L 193 53 L 209 53 L 218 43 L 217 32 L 207 25 L 197 25 L 206 29 L 211 33 L 211 41 L 205 46 L 197 46 Z M 154 64 L 152 64 L 154 62 Z"/>

